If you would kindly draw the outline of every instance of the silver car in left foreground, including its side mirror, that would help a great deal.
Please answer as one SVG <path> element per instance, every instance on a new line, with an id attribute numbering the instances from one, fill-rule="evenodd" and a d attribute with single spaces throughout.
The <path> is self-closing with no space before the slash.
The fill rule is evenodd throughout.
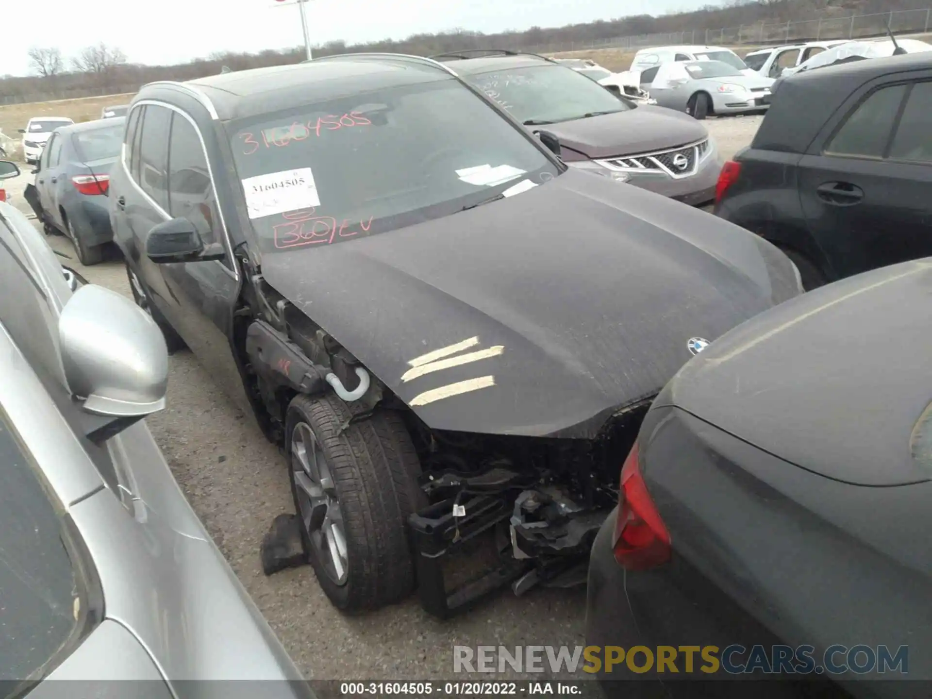
<path id="1" fill-rule="evenodd" d="M 146 428 L 167 376 L 156 323 L 0 203 L 0 696 L 311 696 Z"/>

